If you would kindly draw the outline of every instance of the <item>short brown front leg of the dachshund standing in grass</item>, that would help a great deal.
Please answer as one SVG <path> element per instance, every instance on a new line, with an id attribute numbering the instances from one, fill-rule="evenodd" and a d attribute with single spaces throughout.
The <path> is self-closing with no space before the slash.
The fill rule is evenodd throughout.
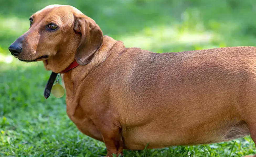
<path id="1" fill-rule="evenodd" d="M 124 148 L 124 143 L 121 136 L 121 127 L 113 123 L 113 121 L 106 119 L 94 121 L 94 124 L 102 134 L 103 141 L 106 145 L 107 156 L 112 157 L 113 154 L 116 156 L 121 155 Z"/>

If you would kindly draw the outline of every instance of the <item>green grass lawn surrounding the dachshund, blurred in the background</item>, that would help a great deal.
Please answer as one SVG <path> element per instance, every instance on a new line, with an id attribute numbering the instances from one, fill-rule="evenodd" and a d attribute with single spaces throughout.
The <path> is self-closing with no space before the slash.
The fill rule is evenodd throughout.
<path id="1" fill-rule="evenodd" d="M 10 57 L 8 46 L 49 4 L 70 4 L 93 18 L 105 35 L 127 47 L 177 52 L 255 46 L 253 0 L 9 0 L 0 2 L 0 156 L 104 156 L 104 143 L 83 135 L 66 115 L 65 97 L 45 100 L 50 71 Z M 124 156 L 243 156 L 256 153 L 248 136 L 225 143 L 124 151 Z"/>

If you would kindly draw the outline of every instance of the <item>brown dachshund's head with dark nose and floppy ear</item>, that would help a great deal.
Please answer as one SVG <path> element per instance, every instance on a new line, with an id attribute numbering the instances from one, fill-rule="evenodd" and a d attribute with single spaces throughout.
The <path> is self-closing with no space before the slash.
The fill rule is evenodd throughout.
<path id="1" fill-rule="evenodd" d="M 64 70 L 74 59 L 86 65 L 103 42 L 94 20 L 69 5 L 49 5 L 34 13 L 30 28 L 10 46 L 21 61 L 43 60 L 47 70 Z"/>

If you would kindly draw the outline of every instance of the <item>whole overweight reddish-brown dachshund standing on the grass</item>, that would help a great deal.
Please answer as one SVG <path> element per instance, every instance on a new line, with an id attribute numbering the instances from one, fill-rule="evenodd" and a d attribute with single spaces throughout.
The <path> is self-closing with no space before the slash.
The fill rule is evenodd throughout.
<path id="1" fill-rule="evenodd" d="M 67 114 L 107 156 L 123 149 L 256 142 L 256 47 L 178 53 L 125 48 L 94 20 L 50 5 L 9 47 L 22 61 L 63 73 Z M 76 68 L 74 68 L 76 67 Z"/>

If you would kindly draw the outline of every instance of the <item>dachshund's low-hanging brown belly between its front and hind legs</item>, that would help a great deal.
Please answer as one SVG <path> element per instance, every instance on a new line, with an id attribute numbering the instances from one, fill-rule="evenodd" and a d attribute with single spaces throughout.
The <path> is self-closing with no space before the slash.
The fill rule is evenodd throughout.
<path id="1" fill-rule="evenodd" d="M 158 126 L 152 129 L 152 126 Z M 249 135 L 248 125 L 244 121 L 227 121 L 216 126 L 216 123 L 202 124 L 200 127 L 191 126 L 162 128 L 156 124 L 148 124 L 123 131 L 126 149 L 142 150 L 147 148 L 163 148 L 175 145 L 198 145 L 230 141 Z"/>

